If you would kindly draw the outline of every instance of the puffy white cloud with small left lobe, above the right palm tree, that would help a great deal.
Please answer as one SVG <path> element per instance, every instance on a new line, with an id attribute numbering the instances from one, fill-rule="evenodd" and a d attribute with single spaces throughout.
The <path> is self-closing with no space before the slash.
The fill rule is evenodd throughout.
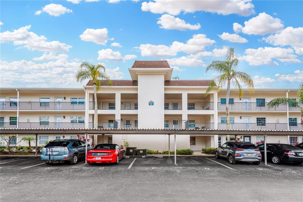
<path id="1" fill-rule="evenodd" d="M 245 26 L 242 27 L 242 25 L 234 23 L 233 29 L 235 32 L 241 30 L 243 33 L 249 35 L 265 35 L 268 33 L 275 33 L 284 27 L 279 18 L 273 18 L 265 12 L 259 13 L 258 16 L 245 21 L 244 25 Z"/>

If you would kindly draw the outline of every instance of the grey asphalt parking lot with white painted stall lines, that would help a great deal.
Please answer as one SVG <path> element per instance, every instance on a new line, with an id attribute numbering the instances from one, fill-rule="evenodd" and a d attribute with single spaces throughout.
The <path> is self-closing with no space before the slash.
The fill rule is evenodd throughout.
<path id="1" fill-rule="evenodd" d="M 215 157 L 147 156 L 115 164 L 46 165 L 1 157 L 1 201 L 302 201 L 303 165 L 228 164 Z"/>

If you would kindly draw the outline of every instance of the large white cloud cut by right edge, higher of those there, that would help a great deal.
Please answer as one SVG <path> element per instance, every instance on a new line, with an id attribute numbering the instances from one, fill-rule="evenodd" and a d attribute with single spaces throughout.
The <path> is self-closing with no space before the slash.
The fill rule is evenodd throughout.
<path id="1" fill-rule="evenodd" d="M 297 54 L 303 55 L 303 27 L 287 27 L 275 35 L 262 38 L 262 40 L 276 46 L 290 45 L 295 49 Z"/>

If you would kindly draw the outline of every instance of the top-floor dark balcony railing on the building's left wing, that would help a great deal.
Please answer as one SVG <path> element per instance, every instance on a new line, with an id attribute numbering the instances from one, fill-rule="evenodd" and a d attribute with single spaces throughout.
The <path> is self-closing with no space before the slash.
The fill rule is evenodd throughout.
<path id="1" fill-rule="evenodd" d="M 0 102 L 0 110 L 17 110 L 17 102 Z M 85 110 L 85 102 L 19 102 L 19 110 Z"/>

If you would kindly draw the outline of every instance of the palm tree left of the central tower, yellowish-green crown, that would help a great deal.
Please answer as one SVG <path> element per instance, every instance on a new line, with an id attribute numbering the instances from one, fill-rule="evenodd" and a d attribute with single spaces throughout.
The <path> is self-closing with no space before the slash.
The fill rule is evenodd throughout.
<path id="1" fill-rule="evenodd" d="M 94 113 L 94 128 L 98 128 L 98 104 L 97 104 L 97 91 L 100 89 L 103 81 L 107 82 L 107 85 L 112 85 L 111 78 L 105 74 L 105 68 L 101 64 L 92 65 L 88 62 L 82 62 L 80 64 L 80 70 L 77 71 L 77 82 L 90 79 L 94 84 L 94 98 L 95 98 L 95 113 Z"/>

